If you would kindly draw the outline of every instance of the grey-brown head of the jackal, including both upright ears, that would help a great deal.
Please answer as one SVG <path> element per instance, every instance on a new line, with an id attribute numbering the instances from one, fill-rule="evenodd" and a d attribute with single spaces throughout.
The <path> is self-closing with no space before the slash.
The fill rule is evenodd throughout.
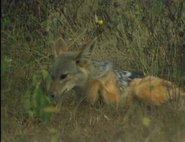
<path id="1" fill-rule="evenodd" d="M 56 41 L 53 48 L 55 62 L 51 73 L 53 83 L 49 90 L 52 98 L 86 83 L 95 41 L 96 38 L 77 52 L 68 51 L 62 38 Z"/>

